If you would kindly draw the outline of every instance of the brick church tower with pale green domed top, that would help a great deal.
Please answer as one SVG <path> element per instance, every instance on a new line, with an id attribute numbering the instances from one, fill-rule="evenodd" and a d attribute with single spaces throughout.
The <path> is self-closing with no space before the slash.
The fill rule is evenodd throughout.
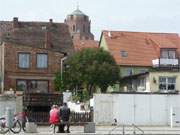
<path id="1" fill-rule="evenodd" d="M 91 33 L 91 21 L 78 7 L 67 15 L 65 23 L 69 26 L 73 40 L 94 40 L 94 35 Z"/>

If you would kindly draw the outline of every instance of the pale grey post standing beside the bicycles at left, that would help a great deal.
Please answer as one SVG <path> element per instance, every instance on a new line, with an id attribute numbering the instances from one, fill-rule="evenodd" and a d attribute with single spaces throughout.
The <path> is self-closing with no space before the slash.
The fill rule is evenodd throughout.
<path id="1" fill-rule="evenodd" d="M 7 107 L 6 108 L 6 126 L 9 128 L 13 127 L 13 117 L 14 117 L 13 109 Z"/>

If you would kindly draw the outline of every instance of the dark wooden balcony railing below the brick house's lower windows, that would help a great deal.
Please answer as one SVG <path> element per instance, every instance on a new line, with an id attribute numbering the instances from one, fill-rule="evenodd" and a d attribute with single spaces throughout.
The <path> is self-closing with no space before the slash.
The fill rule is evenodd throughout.
<path id="1" fill-rule="evenodd" d="M 51 106 L 62 103 L 62 94 L 54 93 L 24 93 L 24 106 Z"/>

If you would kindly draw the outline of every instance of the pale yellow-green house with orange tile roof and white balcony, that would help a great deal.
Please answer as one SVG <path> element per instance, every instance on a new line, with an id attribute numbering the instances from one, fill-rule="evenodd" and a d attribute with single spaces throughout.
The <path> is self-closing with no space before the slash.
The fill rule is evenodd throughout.
<path id="1" fill-rule="evenodd" d="M 130 92 L 180 91 L 178 34 L 103 31 L 100 47 L 109 51 L 120 67 L 121 82 L 115 89 Z"/>

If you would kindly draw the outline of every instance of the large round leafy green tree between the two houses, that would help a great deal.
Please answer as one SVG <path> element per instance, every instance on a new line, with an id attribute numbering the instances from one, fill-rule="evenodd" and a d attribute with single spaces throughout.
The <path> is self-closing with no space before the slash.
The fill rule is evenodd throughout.
<path id="1" fill-rule="evenodd" d="M 119 68 L 109 52 L 103 49 L 83 49 L 67 59 L 68 68 L 63 73 L 63 82 L 69 89 L 86 88 L 92 96 L 99 87 L 106 92 L 108 86 L 119 81 Z"/>

